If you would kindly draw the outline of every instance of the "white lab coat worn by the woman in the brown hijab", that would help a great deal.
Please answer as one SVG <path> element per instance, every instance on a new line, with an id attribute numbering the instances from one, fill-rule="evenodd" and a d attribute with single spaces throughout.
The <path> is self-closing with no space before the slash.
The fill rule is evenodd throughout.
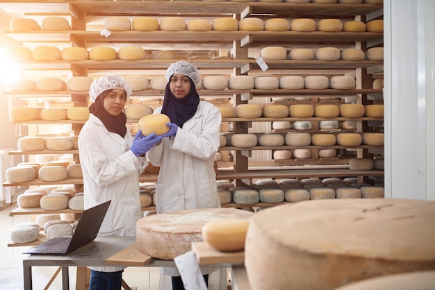
<path id="1" fill-rule="evenodd" d="M 139 176 L 147 161 L 130 151 L 133 137 L 109 132 L 90 114 L 79 134 L 79 156 L 83 171 L 85 209 L 111 200 L 99 236 L 134 237 L 136 221 L 142 217 Z M 142 164 L 143 163 L 143 164 Z M 90 267 L 114 272 L 125 267 Z"/>

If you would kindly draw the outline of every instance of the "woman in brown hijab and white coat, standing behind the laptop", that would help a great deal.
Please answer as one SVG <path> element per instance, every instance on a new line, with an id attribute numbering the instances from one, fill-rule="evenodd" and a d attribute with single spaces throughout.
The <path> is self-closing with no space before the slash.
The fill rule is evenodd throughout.
<path id="1" fill-rule="evenodd" d="M 123 112 L 130 95 L 122 76 L 94 80 L 90 117 L 79 134 L 85 209 L 112 201 L 99 236 L 135 236 L 136 221 L 142 217 L 139 176 L 148 164 L 145 153 L 162 138 L 154 133 L 143 137 L 139 131 L 133 139 Z M 90 268 L 89 289 L 121 289 L 124 267 Z"/>

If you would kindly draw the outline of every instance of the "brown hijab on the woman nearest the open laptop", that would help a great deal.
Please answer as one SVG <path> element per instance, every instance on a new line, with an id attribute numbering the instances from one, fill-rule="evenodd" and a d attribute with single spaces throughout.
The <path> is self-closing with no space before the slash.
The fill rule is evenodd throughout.
<path id="1" fill-rule="evenodd" d="M 100 119 L 109 132 L 117 133 L 122 138 L 124 138 L 125 134 L 127 133 L 127 128 L 125 126 L 127 122 L 127 117 L 124 112 L 121 112 L 121 114 L 117 116 L 113 116 L 109 114 L 106 109 L 104 109 L 104 98 L 112 91 L 113 89 L 108 89 L 99 94 L 99 96 L 97 96 L 97 99 L 95 99 L 95 103 L 90 105 L 89 112 L 95 115 L 95 117 L 97 117 L 98 119 Z"/>

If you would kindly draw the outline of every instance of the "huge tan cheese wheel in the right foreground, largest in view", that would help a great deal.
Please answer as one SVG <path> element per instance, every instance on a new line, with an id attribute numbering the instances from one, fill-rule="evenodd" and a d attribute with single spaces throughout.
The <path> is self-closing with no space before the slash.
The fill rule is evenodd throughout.
<path id="1" fill-rule="evenodd" d="M 247 278 L 253 290 L 336 289 L 433 269 L 434 219 L 434 201 L 384 198 L 310 201 L 260 211 L 252 216 L 245 242 Z"/>

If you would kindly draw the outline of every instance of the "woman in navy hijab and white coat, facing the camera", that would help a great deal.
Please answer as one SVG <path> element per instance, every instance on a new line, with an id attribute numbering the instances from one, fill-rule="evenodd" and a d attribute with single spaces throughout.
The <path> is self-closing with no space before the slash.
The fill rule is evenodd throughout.
<path id="1" fill-rule="evenodd" d="M 170 128 L 161 144 L 151 148 L 147 157 L 160 167 L 156 183 L 157 214 L 197 208 L 220 207 L 214 158 L 220 145 L 220 110 L 201 101 L 196 87 L 199 70 L 186 61 L 172 63 L 165 73 L 168 80 L 163 106 L 154 113 L 166 114 Z M 204 268 L 208 273 L 216 269 Z M 172 276 L 172 289 L 184 289 L 176 268 L 161 268 Z"/>

